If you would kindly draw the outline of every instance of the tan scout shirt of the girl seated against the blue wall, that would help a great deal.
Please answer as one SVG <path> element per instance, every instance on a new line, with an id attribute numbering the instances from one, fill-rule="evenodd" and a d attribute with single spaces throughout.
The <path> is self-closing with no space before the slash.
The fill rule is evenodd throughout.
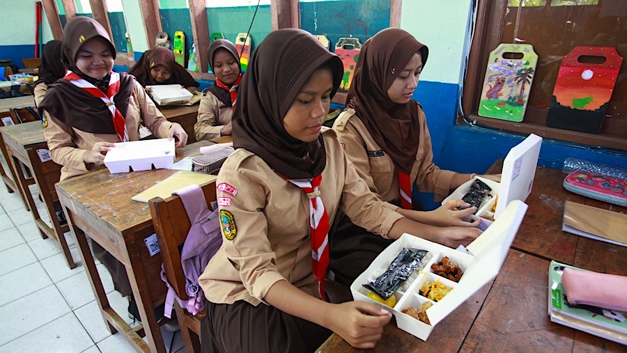
<path id="1" fill-rule="evenodd" d="M 420 123 L 420 140 L 418 152 L 410 178 L 423 192 L 433 192 L 435 201 L 442 201 L 450 194 L 454 171 L 443 171 L 433 164 L 431 135 L 426 125 L 426 117 L 418 105 Z M 383 152 L 366 129 L 362 120 L 355 115 L 355 109 L 346 109 L 333 124 L 338 139 L 346 152 L 346 156 L 355 164 L 357 173 L 368 187 L 378 194 L 383 201 L 400 201 L 401 191 L 398 188 L 397 169 L 392 158 Z"/>

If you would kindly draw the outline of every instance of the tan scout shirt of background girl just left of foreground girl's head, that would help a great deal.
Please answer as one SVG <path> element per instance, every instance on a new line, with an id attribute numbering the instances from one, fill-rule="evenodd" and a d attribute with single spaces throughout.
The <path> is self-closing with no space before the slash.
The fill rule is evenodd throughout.
<path id="1" fill-rule="evenodd" d="M 224 105 L 211 92 L 201 99 L 198 108 L 198 121 L 194 125 L 197 141 L 210 140 L 220 136 L 222 125 L 231 123 L 233 108 Z"/>

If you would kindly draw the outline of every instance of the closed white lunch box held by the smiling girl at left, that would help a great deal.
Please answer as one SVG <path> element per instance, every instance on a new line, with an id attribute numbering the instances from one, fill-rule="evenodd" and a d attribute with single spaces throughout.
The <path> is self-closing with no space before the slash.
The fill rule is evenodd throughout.
<path id="1" fill-rule="evenodd" d="M 174 139 L 118 142 L 104 156 L 104 165 L 111 173 L 168 168 L 174 164 L 174 149 Z"/>

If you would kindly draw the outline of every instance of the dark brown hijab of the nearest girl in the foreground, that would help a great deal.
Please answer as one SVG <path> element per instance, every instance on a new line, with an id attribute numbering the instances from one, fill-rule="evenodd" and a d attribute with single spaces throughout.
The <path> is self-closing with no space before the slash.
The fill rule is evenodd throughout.
<path id="1" fill-rule="evenodd" d="M 233 146 L 254 152 L 291 179 L 313 178 L 326 165 L 323 137 L 313 142 L 293 138 L 283 118 L 300 88 L 321 65 L 333 71 L 333 91 L 343 66 L 335 54 L 301 29 L 273 31 L 253 52 L 233 113 Z"/>

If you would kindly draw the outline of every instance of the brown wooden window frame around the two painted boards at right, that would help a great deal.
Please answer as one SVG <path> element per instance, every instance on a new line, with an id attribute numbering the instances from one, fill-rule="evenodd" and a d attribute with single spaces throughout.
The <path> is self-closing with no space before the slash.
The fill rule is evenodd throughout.
<path id="1" fill-rule="evenodd" d="M 477 3 L 477 21 L 474 26 L 468 65 L 463 82 L 462 108 L 457 123 L 469 120 L 473 124 L 520 134 L 537 134 L 543 138 L 568 141 L 582 145 L 599 146 L 615 150 L 627 150 L 627 119 L 623 116 L 606 116 L 599 134 L 562 130 L 545 125 L 548 109 L 527 106 L 525 120 L 520 123 L 484 118 L 477 114 L 481 88 L 486 75 L 486 63 L 490 51 L 502 42 L 505 13 L 508 0 L 481 0 Z M 465 116 L 463 116 L 465 115 Z M 623 132 L 618 134 L 612 132 Z"/>

